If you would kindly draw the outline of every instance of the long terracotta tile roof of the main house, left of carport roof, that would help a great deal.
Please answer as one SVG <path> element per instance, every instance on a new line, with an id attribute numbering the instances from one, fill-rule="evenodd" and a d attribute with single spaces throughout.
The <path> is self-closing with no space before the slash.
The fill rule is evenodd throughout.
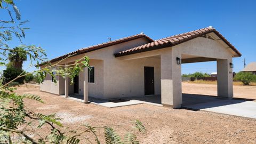
<path id="1" fill-rule="evenodd" d="M 123 38 L 116 39 L 116 40 L 114 40 L 114 41 L 110 41 L 110 42 L 106 42 L 106 43 L 101 43 L 101 44 L 97 44 L 97 45 L 92 45 L 92 46 L 88 46 L 88 47 L 83 47 L 82 49 L 79 49 L 79 50 L 76 50 L 76 51 L 73 51 L 73 52 L 70 52 L 70 53 L 61 55 L 60 57 L 51 59 L 51 60 L 48 61 L 48 62 L 59 61 L 59 60 L 61 60 L 61 59 L 64 59 L 64 58 L 68 57 L 69 55 L 73 55 L 73 57 L 74 57 L 75 55 L 78 55 L 78 54 L 82 54 L 82 53 L 86 53 L 86 52 L 90 52 L 90 51 L 94 51 L 94 50 L 99 50 L 99 49 L 102 49 L 102 48 L 104 48 L 104 47 L 108 47 L 108 46 L 115 45 L 115 44 L 119 44 L 119 43 L 128 42 L 128 41 L 131 41 L 131 40 L 133 40 L 133 39 L 137 39 L 137 38 L 141 38 L 141 37 L 147 38 L 149 42 L 154 42 L 153 39 L 151 39 L 151 38 L 148 37 L 147 35 L 141 33 L 141 34 L 137 34 L 137 35 L 132 35 L 132 36 L 128 36 L 128 37 L 123 37 Z M 44 65 L 44 63 L 41 63 L 39 66 L 42 66 L 42 65 Z"/>

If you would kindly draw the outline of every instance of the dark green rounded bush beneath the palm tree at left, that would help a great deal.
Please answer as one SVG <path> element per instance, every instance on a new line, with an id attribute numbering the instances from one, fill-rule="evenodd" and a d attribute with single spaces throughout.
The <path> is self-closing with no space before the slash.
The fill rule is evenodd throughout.
<path id="1" fill-rule="evenodd" d="M 8 66 L 4 71 L 3 71 L 3 76 L 5 77 L 4 83 L 10 82 L 12 79 L 18 77 L 21 73 L 23 73 L 22 69 L 17 69 L 14 68 L 13 66 Z M 14 82 L 18 82 L 19 84 L 24 83 L 25 77 L 20 77 L 18 79 L 15 79 Z"/>

